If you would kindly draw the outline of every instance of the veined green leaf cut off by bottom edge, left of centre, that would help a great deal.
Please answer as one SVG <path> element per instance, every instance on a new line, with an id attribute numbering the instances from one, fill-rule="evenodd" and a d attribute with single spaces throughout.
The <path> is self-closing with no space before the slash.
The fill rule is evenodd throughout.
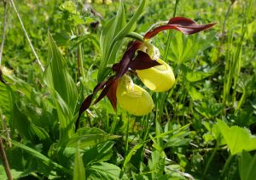
<path id="1" fill-rule="evenodd" d="M 119 166 L 107 162 L 100 162 L 90 166 L 86 174 L 88 174 L 87 179 L 113 180 L 119 179 L 120 172 Z"/>

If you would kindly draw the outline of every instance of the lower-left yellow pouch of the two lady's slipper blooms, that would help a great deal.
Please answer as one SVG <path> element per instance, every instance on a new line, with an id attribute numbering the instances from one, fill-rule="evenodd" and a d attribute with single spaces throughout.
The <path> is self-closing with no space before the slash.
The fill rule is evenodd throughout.
<path id="1" fill-rule="evenodd" d="M 130 76 L 125 75 L 119 80 L 116 96 L 119 106 L 131 115 L 147 115 L 154 108 L 149 93 L 134 84 Z"/>

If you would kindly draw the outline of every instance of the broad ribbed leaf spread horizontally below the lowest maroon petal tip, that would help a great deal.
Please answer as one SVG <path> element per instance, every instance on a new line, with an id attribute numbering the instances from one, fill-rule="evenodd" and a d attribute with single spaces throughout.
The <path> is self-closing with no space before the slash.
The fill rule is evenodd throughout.
<path id="1" fill-rule="evenodd" d="M 80 128 L 78 132 L 73 134 L 73 136 L 67 141 L 62 142 L 60 146 L 76 147 L 77 142 L 80 142 L 79 148 L 84 149 L 86 147 L 96 145 L 97 143 L 102 143 L 115 138 L 119 138 L 119 136 L 110 135 L 107 132 L 103 132 L 95 127 L 83 127 Z"/>

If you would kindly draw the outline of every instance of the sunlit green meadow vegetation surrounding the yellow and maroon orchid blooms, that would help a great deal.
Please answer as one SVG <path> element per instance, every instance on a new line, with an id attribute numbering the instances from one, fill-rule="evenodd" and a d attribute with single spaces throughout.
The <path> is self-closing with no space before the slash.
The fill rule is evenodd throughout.
<path id="1" fill-rule="evenodd" d="M 73 2 L 15 1 L 44 72 L 14 8 L 7 6 L 0 133 L 15 179 L 254 177 L 255 1 L 92 3 L 102 18 L 86 10 L 84 1 Z M 3 12 L 0 1 L 0 37 Z M 114 111 L 103 98 L 84 112 L 75 132 L 84 98 L 113 75 L 111 66 L 128 42 L 172 16 L 217 23 L 195 35 L 163 31 L 152 39 L 172 66 L 175 85 L 154 93 L 132 76 L 152 96 L 152 112 L 130 115 L 119 105 Z M 7 179 L 4 167 L 1 159 L 0 179 Z"/>

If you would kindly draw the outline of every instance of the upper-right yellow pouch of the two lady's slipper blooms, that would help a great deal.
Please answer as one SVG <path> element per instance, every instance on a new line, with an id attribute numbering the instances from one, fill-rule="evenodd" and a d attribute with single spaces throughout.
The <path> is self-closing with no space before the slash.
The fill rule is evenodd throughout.
<path id="1" fill-rule="evenodd" d="M 161 59 L 157 59 L 161 65 L 156 65 L 146 70 L 137 70 L 137 76 L 143 84 L 154 92 L 164 92 L 169 90 L 174 82 L 175 76 L 172 68 Z"/>

